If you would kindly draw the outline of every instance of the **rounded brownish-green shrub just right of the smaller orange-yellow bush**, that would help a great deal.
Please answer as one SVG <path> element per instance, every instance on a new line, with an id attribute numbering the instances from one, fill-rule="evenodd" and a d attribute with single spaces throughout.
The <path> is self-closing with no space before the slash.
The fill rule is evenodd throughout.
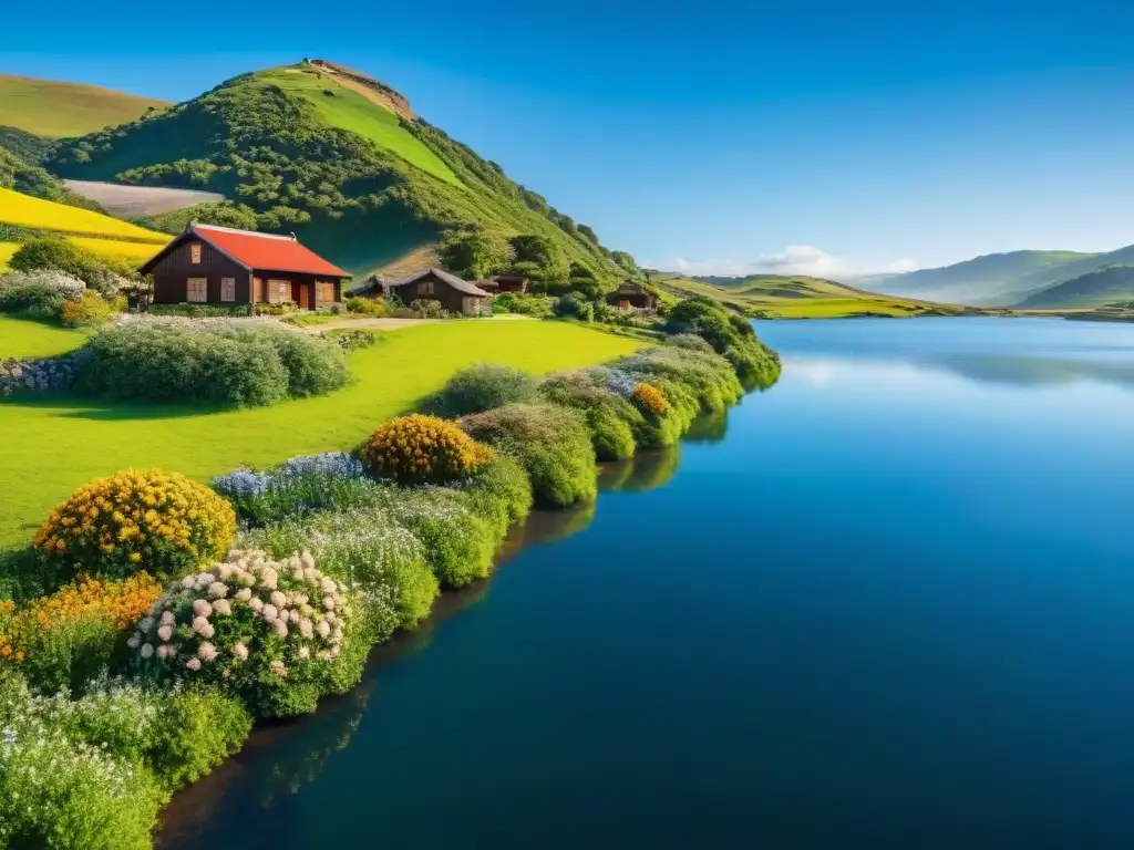
<path id="1" fill-rule="evenodd" d="M 511 454 L 532 479 L 535 499 L 564 507 L 598 494 L 586 419 L 558 405 L 508 405 L 460 420 L 474 439 Z"/>

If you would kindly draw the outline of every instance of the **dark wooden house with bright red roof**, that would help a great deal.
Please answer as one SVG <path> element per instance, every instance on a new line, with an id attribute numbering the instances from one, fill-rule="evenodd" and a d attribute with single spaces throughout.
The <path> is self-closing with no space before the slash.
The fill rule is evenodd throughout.
<path id="1" fill-rule="evenodd" d="M 349 278 L 295 236 L 189 222 L 142 266 L 154 304 L 287 304 L 315 309 L 341 300 Z"/>

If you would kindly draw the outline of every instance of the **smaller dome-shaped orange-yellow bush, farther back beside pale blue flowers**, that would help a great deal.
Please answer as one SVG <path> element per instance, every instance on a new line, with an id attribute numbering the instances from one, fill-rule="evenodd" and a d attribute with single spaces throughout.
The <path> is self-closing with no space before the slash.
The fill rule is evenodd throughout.
<path id="1" fill-rule="evenodd" d="M 492 452 L 451 422 L 435 416 L 400 416 L 379 425 L 361 456 L 376 475 L 399 484 L 441 484 L 467 478 L 492 460 Z"/>

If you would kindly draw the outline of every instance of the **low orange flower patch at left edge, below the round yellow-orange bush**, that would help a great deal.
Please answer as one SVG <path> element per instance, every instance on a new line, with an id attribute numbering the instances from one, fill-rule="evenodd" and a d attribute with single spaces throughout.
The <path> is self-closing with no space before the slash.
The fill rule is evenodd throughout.
<path id="1" fill-rule="evenodd" d="M 161 583 L 145 572 L 124 581 L 87 579 L 41 596 L 27 607 L 0 603 L 0 660 L 19 664 L 35 632 L 43 632 L 94 615 L 119 631 L 145 614 L 161 594 Z"/>

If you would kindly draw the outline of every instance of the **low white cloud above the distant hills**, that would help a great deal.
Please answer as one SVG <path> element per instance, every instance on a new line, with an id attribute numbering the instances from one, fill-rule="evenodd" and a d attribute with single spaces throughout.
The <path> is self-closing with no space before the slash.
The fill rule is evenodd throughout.
<path id="1" fill-rule="evenodd" d="M 668 260 L 646 261 L 649 269 L 683 274 L 719 274 L 742 278 L 746 274 L 809 274 L 830 280 L 855 280 L 874 274 L 898 274 L 920 267 L 913 260 L 877 261 L 829 254 L 814 245 L 788 245 L 782 250 L 759 254 L 754 260 Z"/>

